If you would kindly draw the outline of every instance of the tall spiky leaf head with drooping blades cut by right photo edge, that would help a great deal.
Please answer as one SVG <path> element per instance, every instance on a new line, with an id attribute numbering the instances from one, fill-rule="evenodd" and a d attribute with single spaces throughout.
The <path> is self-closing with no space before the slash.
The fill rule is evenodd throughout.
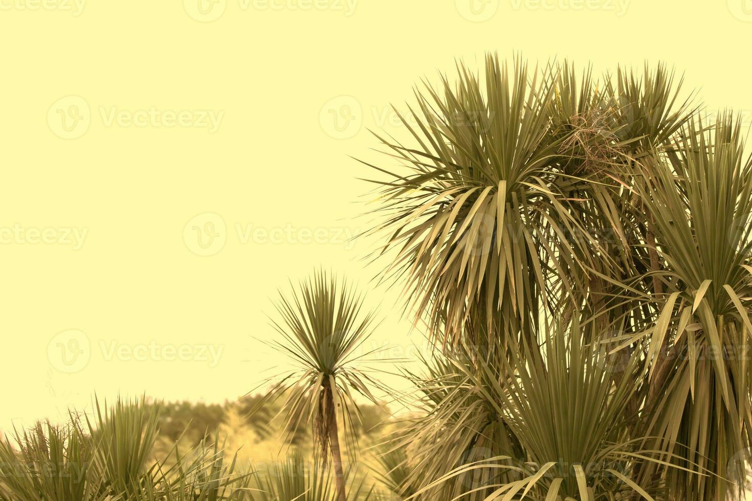
<path id="1" fill-rule="evenodd" d="M 652 214 L 664 294 L 648 333 L 652 404 L 647 421 L 660 446 L 717 476 L 669 480 L 684 499 L 725 499 L 744 485 L 752 430 L 752 161 L 738 123 L 690 125 L 669 161 L 653 161 L 642 186 Z M 646 473 L 647 474 L 647 473 Z M 719 478 L 721 477 L 721 478 Z"/>

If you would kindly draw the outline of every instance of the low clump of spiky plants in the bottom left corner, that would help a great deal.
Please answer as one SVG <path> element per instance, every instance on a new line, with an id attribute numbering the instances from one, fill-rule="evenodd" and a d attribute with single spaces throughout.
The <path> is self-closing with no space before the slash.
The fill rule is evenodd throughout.
<path id="1" fill-rule="evenodd" d="M 205 443 L 172 466 L 153 457 L 159 405 L 95 400 L 95 413 L 70 413 L 62 425 L 38 423 L 0 440 L 3 501 L 240 501 L 250 499 L 250 471 L 236 473 L 235 459 Z"/>

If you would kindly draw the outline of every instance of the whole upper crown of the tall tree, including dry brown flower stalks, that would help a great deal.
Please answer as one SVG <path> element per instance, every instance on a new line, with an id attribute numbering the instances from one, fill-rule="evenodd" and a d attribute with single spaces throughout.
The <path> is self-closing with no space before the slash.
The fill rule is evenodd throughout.
<path id="1" fill-rule="evenodd" d="M 619 70 L 599 91 L 566 62 L 517 60 L 510 74 L 488 56 L 483 80 L 458 71 L 456 86 L 416 92 L 403 118 L 414 146 L 379 137 L 403 169 L 369 164 L 387 175 L 374 228 L 396 252 L 384 276 L 405 278 L 416 318 L 450 344 L 475 336 L 478 318 L 530 341 L 541 310 L 576 311 L 586 296 L 606 309 L 615 291 L 593 270 L 644 272 L 625 250 L 642 229 L 635 162 L 672 148 L 691 113 L 673 74 Z"/>

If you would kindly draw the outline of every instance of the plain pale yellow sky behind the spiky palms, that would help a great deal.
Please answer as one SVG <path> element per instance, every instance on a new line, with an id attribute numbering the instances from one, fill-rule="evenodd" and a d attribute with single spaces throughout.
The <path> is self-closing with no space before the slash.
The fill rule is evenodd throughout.
<path id="1" fill-rule="evenodd" d="M 201 2 L 201 3 L 199 3 Z M 368 288 L 375 343 L 418 336 L 348 237 L 366 128 L 455 59 L 666 61 L 752 116 L 752 2 L 0 0 L 0 428 L 96 391 L 234 399 L 285 362 L 270 298 L 323 265 Z"/>

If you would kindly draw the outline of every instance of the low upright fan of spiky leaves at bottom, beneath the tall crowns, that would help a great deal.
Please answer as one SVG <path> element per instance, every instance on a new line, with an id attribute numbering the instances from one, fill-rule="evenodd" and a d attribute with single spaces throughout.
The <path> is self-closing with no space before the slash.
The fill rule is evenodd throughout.
<path id="1" fill-rule="evenodd" d="M 631 373 L 637 356 L 626 367 L 614 367 L 600 343 L 585 343 L 597 337 L 585 332 L 593 328 L 592 323 L 583 327 L 576 319 L 569 326 L 559 325 L 545 336 L 544 358 L 523 355 L 529 346 L 512 349 L 511 357 L 502 359 L 500 371 L 490 364 L 481 364 L 481 373 L 458 366 L 493 403 L 522 454 L 502 451 L 465 463 L 418 494 L 476 471 L 494 472 L 496 478 L 466 488 L 457 499 L 474 499 L 475 493 L 488 501 L 655 499 L 663 493 L 660 484 L 638 485 L 632 480 L 638 465 L 667 466 L 674 458 L 669 452 L 643 450 L 640 441 L 630 436 L 632 420 L 626 409 L 637 381 L 623 377 L 614 384 L 612 373 Z"/>

